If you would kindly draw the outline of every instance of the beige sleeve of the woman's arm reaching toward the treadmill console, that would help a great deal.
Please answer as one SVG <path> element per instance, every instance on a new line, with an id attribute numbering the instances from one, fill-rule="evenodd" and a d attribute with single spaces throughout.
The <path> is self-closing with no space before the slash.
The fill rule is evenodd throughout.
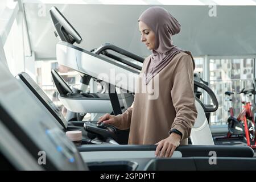
<path id="1" fill-rule="evenodd" d="M 125 112 L 122 114 L 115 115 L 115 118 L 117 119 L 117 125 L 116 127 L 119 130 L 126 130 L 130 128 L 131 124 L 131 114 L 133 113 L 133 104 L 126 109 Z"/>

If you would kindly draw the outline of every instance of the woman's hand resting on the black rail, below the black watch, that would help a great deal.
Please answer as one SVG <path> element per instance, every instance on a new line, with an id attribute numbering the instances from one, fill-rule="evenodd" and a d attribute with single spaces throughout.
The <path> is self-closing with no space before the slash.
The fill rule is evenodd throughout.
<path id="1" fill-rule="evenodd" d="M 159 158 L 170 158 L 174 154 L 175 149 L 180 145 L 181 136 L 171 133 L 169 137 L 156 143 L 158 146 L 155 150 L 155 156 Z"/>

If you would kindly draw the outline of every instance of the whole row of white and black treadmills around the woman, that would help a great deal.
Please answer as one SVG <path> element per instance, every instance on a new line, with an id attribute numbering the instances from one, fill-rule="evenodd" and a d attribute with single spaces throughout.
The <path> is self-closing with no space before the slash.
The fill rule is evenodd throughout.
<path id="1" fill-rule="evenodd" d="M 56 46 L 58 63 L 79 72 L 82 84 L 88 85 L 90 78 L 94 78 L 108 86 L 106 93 L 75 93 L 53 70 L 53 81 L 63 105 L 74 113 L 121 114 L 133 102 L 135 87 L 125 81 L 117 84 L 115 78 L 106 77 L 114 69 L 115 73 L 125 73 L 136 80 L 141 67 L 115 53 L 141 63 L 143 59 L 111 44 L 92 51 L 73 46 L 81 42 L 79 34 L 56 7 L 50 13 L 55 33 L 61 39 Z M 100 73 L 105 73 L 105 78 L 102 74 L 99 77 Z M 196 98 L 198 116 L 191 131 L 191 144 L 177 147 L 168 159 L 155 158 L 155 145 L 127 145 L 129 131 L 102 129 L 96 126 L 96 121 L 67 121 L 27 73 L 14 77 L 1 62 L 0 80 L 0 169 L 255 170 L 256 159 L 250 147 L 214 146 L 205 113 L 216 111 L 218 102 L 212 90 L 196 77 L 195 85 L 209 94 L 212 105 Z M 115 88 L 122 90 L 121 94 Z M 65 136 L 71 130 L 82 131 L 81 146 L 75 146 Z M 216 163 L 209 160 L 213 151 Z M 38 160 L 42 152 L 47 156 L 43 165 Z"/>

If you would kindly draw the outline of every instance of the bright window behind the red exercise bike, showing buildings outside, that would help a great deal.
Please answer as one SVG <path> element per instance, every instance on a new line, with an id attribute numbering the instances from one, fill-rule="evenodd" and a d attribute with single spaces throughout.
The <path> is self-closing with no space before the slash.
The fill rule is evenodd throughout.
<path id="1" fill-rule="evenodd" d="M 228 101 L 225 100 L 225 92 L 234 92 L 232 106 L 234 115 L 240 113 L 244 100 L 240 94 L 242 88 L 251 88 L 253 78 L 254 59 L 210 59 L 210 88 L 216 94 L 218 110 L 211 114 L 211 125 L 226 125 L 229 117 Z"/>

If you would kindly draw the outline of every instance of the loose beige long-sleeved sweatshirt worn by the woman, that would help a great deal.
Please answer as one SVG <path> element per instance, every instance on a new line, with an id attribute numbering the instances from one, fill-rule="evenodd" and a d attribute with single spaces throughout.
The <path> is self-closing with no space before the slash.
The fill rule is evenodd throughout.
<path id="1" fill-rule="evenodd" d="M 167 138 L 170 129 L 179 130 L 183 134 L 180 144 L 187 144 L 197 117 L 192 58 L 187 53 L 178 53 L 158 78 L 148 83 L 153 94 L 142 92 L 147 87 L 142 75 L 148 63 L 149 57 L 144 60 L 133 105 L 116 116 L 117 127 L 130 128 L 129 144 L 155 144 Z M 157 81 L 159 84 L 155 84 Z"/>

